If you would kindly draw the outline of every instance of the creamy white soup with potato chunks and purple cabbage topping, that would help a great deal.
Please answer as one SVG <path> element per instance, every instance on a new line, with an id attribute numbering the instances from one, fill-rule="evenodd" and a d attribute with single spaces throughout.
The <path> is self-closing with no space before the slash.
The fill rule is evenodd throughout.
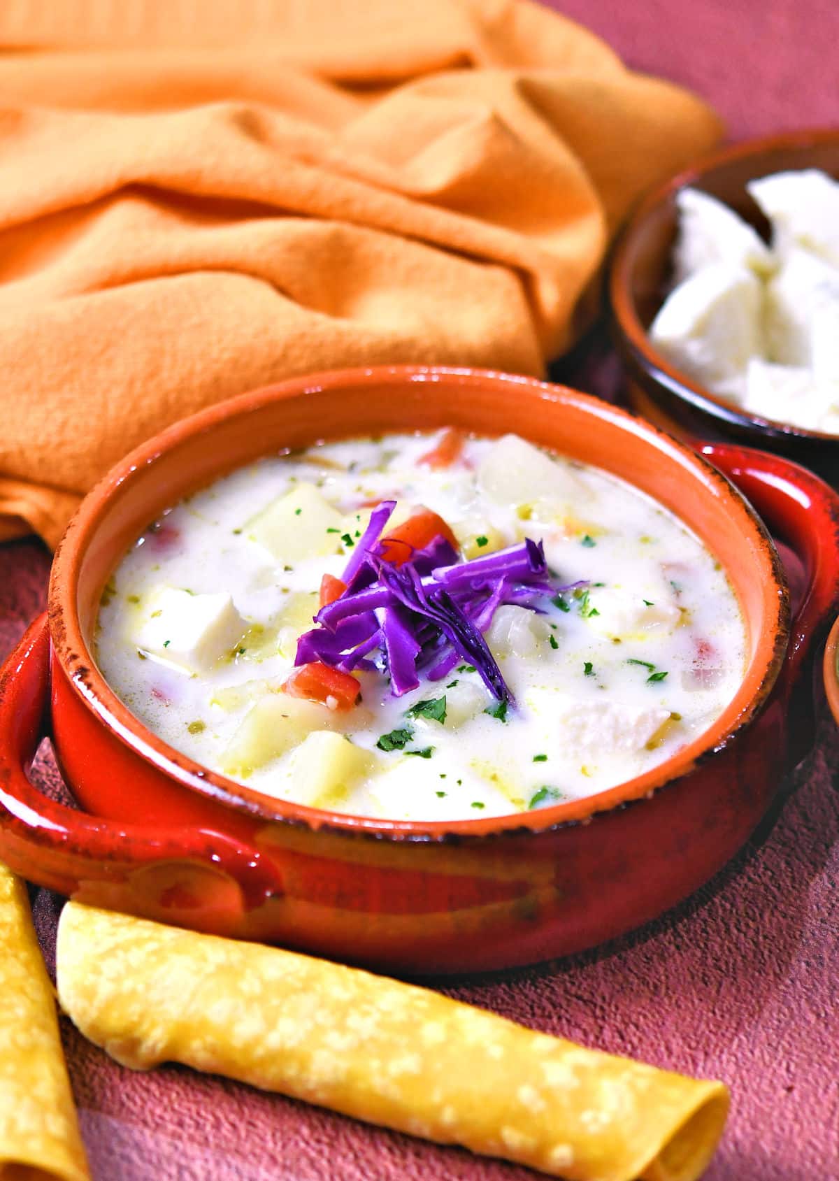
<path id="1" fill-rule="evenodd" d="M 645 494 L 442 431 L 182 501 L 117 567 L 97 655 L 152 731 L 265 795 L 453 820 L 662 763 L 733 698 L 746 635 L 720 563 Z"/>

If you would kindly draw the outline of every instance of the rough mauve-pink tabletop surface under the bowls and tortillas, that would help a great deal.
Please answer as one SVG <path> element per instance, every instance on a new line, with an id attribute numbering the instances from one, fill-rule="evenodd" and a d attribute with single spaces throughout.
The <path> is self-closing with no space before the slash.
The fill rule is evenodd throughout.
<path id="1" fill-rule="evenodd" d="M 839 123 L 837 0 L 552 6 L 630 65 L 695 87 L 733 138 Z M 605 358 L 577 381 L 606 392 L 613 378 Z M 48 566 L 34 542 L 0 547 L 0 654 L 41 609 Z M 838 765 L 822 720 L 774 827 L 684 906 L 597 952 L 448 991 L 587 1045 L 723 1078 L 733 1111 L 708 1181 L 839 1177 Z M 56 789 L 48 761 L 39 778 Z M 48 959 L 58 905 L 34 893 Z M 66 1020 L 63 1036 L 97 1181 L 534 1176 L 176 1066 L 136 1075 Z"/>

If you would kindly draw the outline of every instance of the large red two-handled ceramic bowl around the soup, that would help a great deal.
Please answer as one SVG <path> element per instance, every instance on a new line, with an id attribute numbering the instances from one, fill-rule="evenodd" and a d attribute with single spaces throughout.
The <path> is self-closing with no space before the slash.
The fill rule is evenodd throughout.
<path id="1" fill-rule="evenodd" d="M 268 798 L 132 717 L 90 638 L 103 586 L 149 521 L 281 446 L 444 424 L 515 430 L 600 464 L 710 544 L 742 602 L 749 659 L 701 739 L 588 800 L 410 823 Z M 705 452 L 801 560 L 807 588 L 792 637 L 778 555 L 740 492 L 653 426 L 572 390 L 458 370 L 358 370 L 256 391 L 170 428 L 84 501 L 56 554 L 48 621 L 37 620 L 5 665 L 0 857 L 80 901 L 414 974 L 544 960 L 661 913 L 736 852 L 806 748 L 807 727 L 791 718 L 808 716 L 813 645 L 839 607 L 837 496 L 783 459 Z M 28 783 L 45 732 L 85 811 Z"/>

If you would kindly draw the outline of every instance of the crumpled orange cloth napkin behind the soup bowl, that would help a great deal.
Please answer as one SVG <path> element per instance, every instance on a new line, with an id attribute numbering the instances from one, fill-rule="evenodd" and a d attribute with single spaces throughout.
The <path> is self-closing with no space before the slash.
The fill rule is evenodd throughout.
<path id="1" fill-rule="evenodd" d="M 523 0 L 6 0 L 0 537 L 306 371 L 541 373 L 638 194 L 720 136 Z"/>

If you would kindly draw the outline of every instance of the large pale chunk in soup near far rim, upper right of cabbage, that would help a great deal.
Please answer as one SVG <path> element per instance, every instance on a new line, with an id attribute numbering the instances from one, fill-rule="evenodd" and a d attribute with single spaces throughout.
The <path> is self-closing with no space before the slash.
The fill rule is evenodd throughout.
<path id="1" fill-rule="evenodd" d="M 479 490 L 494 504 L 520 507 L 548 502 L 575 504 L 591 500 L 581 481 L 549 456 L 515 435 L 489 448 L 477 469 Z"/>

